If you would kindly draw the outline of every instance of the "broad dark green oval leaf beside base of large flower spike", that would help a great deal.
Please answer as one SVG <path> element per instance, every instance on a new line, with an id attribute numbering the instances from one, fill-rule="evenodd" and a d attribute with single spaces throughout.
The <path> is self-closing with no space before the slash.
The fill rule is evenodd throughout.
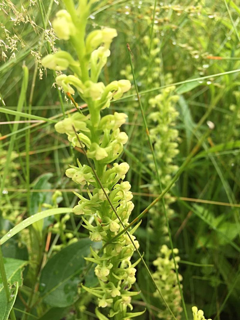
<path id="1" fill-rule="evenodd" d="M 67 307 L 78 299 L 79 274 L 90 253 L 90 239 L 70 244 L 53 256 L 43 268 L 39 291 L 44 302 L 53 307 Z"/>

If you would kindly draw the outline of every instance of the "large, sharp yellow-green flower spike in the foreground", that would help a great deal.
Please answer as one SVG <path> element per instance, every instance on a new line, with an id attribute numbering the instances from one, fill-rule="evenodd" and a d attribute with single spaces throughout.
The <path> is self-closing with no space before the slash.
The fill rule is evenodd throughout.
<path id="1" fill-rule="evenodd" d="M 79 202 L 73 212 L 81 215 L 83 227 L 89 230 L 92 241 L 106 244 L 128 226 L 134 204 L 131 201 L 131 185 L 128 181 L 123 181 L 129 165 L 114 163 L 112 167 L 109 166 L 118 158 L 128 140 L 126 133 L 120 132 L 127 116 L 118 112 L 102 116 L 101 110 L 108 108 L 112 99 L 122 97 L 124 92 L 131 88 L 131 83 L 129 80 L 113 81 L 107 85 L 98 82 L 100 71 L 110 55 L 111 41 L 117 36 L 116 30 L 102 28 L 85 36 L 91 1 L 80 1 L 76 11 L 72 10 L 74 6 L 69 3 L 72 2 L 65 2 L 68 11 L 58 12 L 52 26 L 59 39 L 71 42 L 77 59 L 68 52 L 58 51 L 47 55 L 42 64 L 54 70 L 70 69 L 72 75 L 61 74 L 57 76 L 56 82 L 66 93 L 75 94 L 77 91 L 88 105 L 88 115 L 76 112 L 58 122 L 55 129 L 59 133 L 67 134 L 74 147 L 86 147 L 86 154 L 93 161 L 94 171 L 89 165 L 77 161 L 78 167 L 70 166 L 66 175 L 80 186 L 88 186 L 86 196 L 74 192 Z M 91 249 L 92 257 L 85 258 L 97 264 L 95 274 L 99 279 L 99 286 L 87 288 L 83 285 L 83 288 L 97 297 L 98 307 L 110 307 L 108 317 L 130 319 L 143 313 L 131 313 L 127 310 L 128 307 L 132 310 L 131 297 L 138 294 L 130 291 L 136 281 L 135 267 L 140 261 L 133 264 L 130 261 L 135 247 L 139 247 L 133 236 L 137 227 L 138 225 L 130 229 L 130 236 L 122 234 L 116 241 L 107 244 L 101 255 Z M 96 315 L 105 319 L 98 308 Z"/>

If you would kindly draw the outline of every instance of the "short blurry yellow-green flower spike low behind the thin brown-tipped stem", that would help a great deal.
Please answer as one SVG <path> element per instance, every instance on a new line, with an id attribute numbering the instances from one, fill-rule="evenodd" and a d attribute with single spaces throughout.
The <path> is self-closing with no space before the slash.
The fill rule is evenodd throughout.
<path id="1" fill-rule="evenodd" d="M 178 254 L 178 249 L 173 249 L 174 254 Z M 182 307 L 181 295 L 177 282 L 177 275 L 174 271 L 174 261 L 170 257 L 172 250 L 169 249 L 165 244 L 160 249 L 160 256 L 153 261 L 153 265 L 156 266 L 157 270 L 153 274 L 157 286 L 160 288 L 164 299 L 168 302 L 169 307 L 173 311 L 176 319 L 181 319 Z M 180 260 L 180 257 L 175 256 L 175 262 Z M 177 265 L 178 268 L 178 265 Z M 182 280 L 182 276 L 179 274 L 179 280 Z M 155 297 L 159 297 L 159 292 L 154 292 Z M 158 313 L 158 317 L 164 320 L 171 320 L 172 315 L 169 314 L 168 309 L 165 309 Z"/>

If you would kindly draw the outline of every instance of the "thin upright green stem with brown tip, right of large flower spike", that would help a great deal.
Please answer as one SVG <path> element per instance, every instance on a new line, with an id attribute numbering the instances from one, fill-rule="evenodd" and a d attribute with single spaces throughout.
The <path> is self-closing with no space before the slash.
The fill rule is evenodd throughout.
<path id="1" fill-rule="evenodd" d="M 137 93 L 138 102 L 139 102 L 139 106 L 140 106 L 140 109 L 141 109 L 141 114 L 142 114 L 144 127 L 145 127 L 145 130 L 146 130 L 146 133 L 147 133 L 147 137 L 148 137 L 148 143 L 149 143 L 149 146 L 150 146 L 150 149 L 151 149 L 151 153 L 152 153 L 152 156 L 153 156 L 153 161 L 154 161 L 154 165 L 155 165 L 155 171 L 156 171 L 156 175 L 157 175 L 159 189 L 160 189 L 160 192 L 162 193 L 163 188 L 162 188 L 162 183 L 161 183 L 161 179 L 160 179 L 160 175 L 159 175 L 159 171 L 158 171 L 158 166 L 157 166 L 157 162 L 156 162 L 156 156 L 155 156 L 155 152 L 154 152 L 154 149 L 153 149 L 152 141 L 151 141 L 151 138 L 150 138 L 150 134 L 149 134 L 149 130 L 148 130 L 148 124 L 147 124 L 146 117 L 145 117 L 145 114 L 144 114 L 144 111 L 143 111 L 142 102 L 141 102 L 140 95 L 139 95 L 139 92 L 138 92 L 138 86 L 137 86 L 135 73 L 134 73 L 134 68 L 133 68 L 133 64 L 132 64 L 132 56 L 131 56 L 132 52 L 130 50 L 129 45 L 127 45 L 127 48 L 128 48 L 128 53 L 129 53 L 130 65 L 131 65 L 131 69 L 132 69 L 133 82 L 134 82 L 134 85 L 135 85 L 135 90 L 136 90 L 136 93 Z M 168 221 L 168 216 L 167 216 L 167 212 L 166 212 L 164 197 L 162 197 L 161 201 L 162 201 L 162 205 L 163 205 L 164 217 L 165 217 L 165 220 L 166 220 L 168 236 L 169 236 L 170 246 L 171 246 L 171 250 L 172 250 L 172 259 L 173 259 L 173 262 L 174 262 L 174 269 L 175 269 L 175 272 L 176 272 L 178 287 L 179 287 L 179 291 L 180 291 L 180 294 L 181 294 L 182 306 L 183 306 L 185 317 L 188 320 L 188 313 L 187 313 L 185 300 L 184 300 L 184 297 L 183 297 L 183 292 L 182 292 L 182 288 L 181 288 L 181 284 L 180 284 L 180 280 L 179 280 L 179 273 L 178 273 L 178 268 L 177 268 L 177 264 L 176 264 L 176 260 L 175 260 L 175 253 L 174 253 L 174 250 L 173 250 L 172 234 L 171 234 L 171 230 L 170 230 L 170 226 L 169 226 L 169 221 Z"/>

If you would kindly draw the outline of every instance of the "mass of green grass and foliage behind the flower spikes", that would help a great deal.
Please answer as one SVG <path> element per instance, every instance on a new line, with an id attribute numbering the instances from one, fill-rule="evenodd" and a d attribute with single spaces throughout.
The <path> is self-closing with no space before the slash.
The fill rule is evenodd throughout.
<path id="1" fill-rule="evenodd" d="M 74 107 L 53 84 L 53 72 L 41 66 L 41 57 L 47 52 L 57 48 L 71 51 L 55 38 L 51 27 L 60 7 L 63 5 L 57 1 L 0 3 L 1 236 L 7 237 L 16 224 L 37 212 L 76 204 L 72 193 L 76 185 L 65 176 L 65 170 L 73 159 L 76 162 L 84 156 L 71 148 L 53 125 L 62 117 L 60 97 L 66 113 Z M 181 166 L 204 135 L 206 121 L 215 124 L 171 190 L 175 197 L 170 205 L 174 210 L 171 235 L 179 249 L 179 272 L 190 319 L 193 305 L 218 320 L 237 319 L 240 312 L 239 14 L 233 1 L 99 1 L 87 26 L 89 31 L 108 26 L 118 32 L 100 75 L 104 83 L 126 76 L 132 81 L 126 48 L 130 44 L 150 130 L 156 122 L 149 116 L 155 111 L 149 99 L 164 92 L 159 87 L 183 82 L 172 89 L 172 94 L 179 96 L 175 104 L 174 128 L 179 131 L 175 165 Z M 149 43 L 146 36 L 158 42 Z M 238 71 L 228 73 L 231 70 Z M 219 73 L 224 74 L 214 76 Z M 199 77 L 203 79 L 185 82 Z M 77 95 L 75 100 L 81 104 Z M 130 165 L 127 180 L 134 194 L 133 220 L 159 192 L 153 188 L 156 177 L 149 164 L 151 150 L 134 85 L 130 94 L 104 112 L 122 110 L 128 115 L 124 131 L 129 141 L 121 159 Z M 88 286 L 96 283 L 93 269 L 88 270 L 82 259 L 90 254 L 90 240 L 81 228 L 82 220 L 70 212 L 36 221 L 2 245 L 17 319 L 96 317 L 93 297 L 80 289 L 83 281 Z M 156 241 L 150 219 L 151 213 L 143 216 L 135 235 L 145 252 L 144 260 L 155 272 L 152 261 L 168 239 Z M 162 230 L 163 225 L 154 227 Z M 137 255 L 134 258 L 137 260 Z M 138 311 L 147 308 L 139 319 L 156 319 L 165 307 L 154 296 L 155 288 L 141 264 L 136 290 L 141 293 L 134 297 L 134 307 Z M 5 299 L 2 295 L 0 284 L 0 301 Z"/>

